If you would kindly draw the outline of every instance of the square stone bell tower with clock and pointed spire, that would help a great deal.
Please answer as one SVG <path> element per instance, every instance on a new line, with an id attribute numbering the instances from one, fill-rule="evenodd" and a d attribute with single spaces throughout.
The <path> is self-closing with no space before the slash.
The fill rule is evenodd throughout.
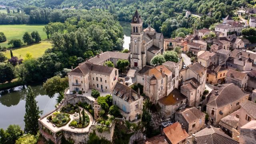
<path id="1" fill-rule="evenodd" d="M 138 68 L 139 70 L 145 66 L 145 64 L 143 64 L 145 62 L 142 62 L 144 59 L 142 58 L 142 53 L 145 55 L 144 52 L 142 52 L 142 40 L 144 34 L 142 24 L 142 19 L 136 10 L 131 22 L 130 65 L 131 68 Z"/>

